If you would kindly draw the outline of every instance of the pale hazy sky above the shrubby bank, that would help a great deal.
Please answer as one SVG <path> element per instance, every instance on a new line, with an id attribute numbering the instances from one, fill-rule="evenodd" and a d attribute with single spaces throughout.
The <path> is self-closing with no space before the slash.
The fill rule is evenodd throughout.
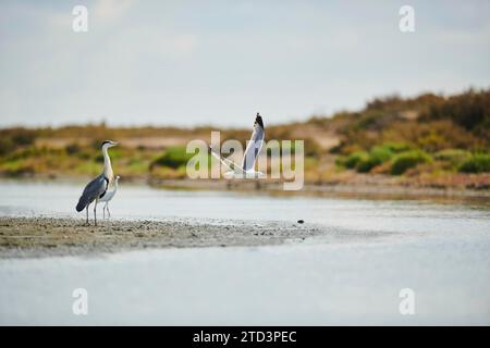
<path id="1" fill-rule="evenodd" d="M 490 87 L 489 62 L 487 0 L 0 1 L 0 126 L 280 123 Z"/>

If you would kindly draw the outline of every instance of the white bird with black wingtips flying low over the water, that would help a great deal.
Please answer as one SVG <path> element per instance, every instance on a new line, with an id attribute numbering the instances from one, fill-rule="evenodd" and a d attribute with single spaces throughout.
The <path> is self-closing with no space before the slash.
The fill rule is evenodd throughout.
<path id="1" fill-rule="evenodd" d="M 222 156 L 216 153 L 211 147 L 209 150 L 213 157 L 220 160 L 230 171 L 224 173 L 225 178 L 258 178 L 265 177 L 262 172 L 256 172 L 254 170 L 255 162 L 264 145 L 264 138 L 266 137 L 266 130 L 264 128 L 264 122 L 260 114 L 257 112 L 254 122 L 254 130 L 252 132 L 250 140 L 245 149 L 242 159 L 242 165 L 234 163 L 233 161 L 223 158 Z"/>

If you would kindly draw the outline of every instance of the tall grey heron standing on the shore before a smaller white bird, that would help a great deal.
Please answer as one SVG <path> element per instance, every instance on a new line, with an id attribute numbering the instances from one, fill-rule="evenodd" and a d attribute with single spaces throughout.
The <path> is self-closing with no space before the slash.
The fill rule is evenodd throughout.
<path id="1" fill-rule="evenodd" d="M 79 197 L 78 203 L 76 204 L 76 211 L 81 212 L 86 209 L 87 211 L 87 225 L 88 225 L 88 206 L 95 201 L 94 204 L 94 222 L 97 226 L 97 203 L 106 195 L 109 184 L 114 179 L 114 173 L 112 171 L 111 159 L 109 158 L 108 149 L 117 146 L 118 142 L 106 140 L 102 142 L 102 154 L 103 154 L 103 170 L 102 174 L 94 178 L 90 183 L 85 186 L 85 189 Z"/>

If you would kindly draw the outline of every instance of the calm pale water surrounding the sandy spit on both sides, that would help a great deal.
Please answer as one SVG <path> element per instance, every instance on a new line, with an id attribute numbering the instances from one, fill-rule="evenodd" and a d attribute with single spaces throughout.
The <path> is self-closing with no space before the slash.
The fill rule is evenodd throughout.
<path id="1" fill-rule="evenodd" d="M 0 214 L 78 216 L 83 185 L 0 183 Z M 285 221 L 363 232 L 283 246 L 0 261 L 0 324 L 490 324 L 488 206 L 173 191 L 122 184 L 118 219 Z M 376 239 L 373 233 L 391 234 Z M 88 315 L 72 291 L 86 288 Z M 415 314 L 399 310 L 402 288 Z"/>

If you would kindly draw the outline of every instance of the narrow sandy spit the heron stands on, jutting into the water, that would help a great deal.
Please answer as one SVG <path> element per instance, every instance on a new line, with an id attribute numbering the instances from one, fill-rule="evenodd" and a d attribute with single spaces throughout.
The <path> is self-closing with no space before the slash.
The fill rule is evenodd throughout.
<path id="1" fill-rule="evenodd" d="M 0 217 L 0 259 L 84 256 L 145 248 L 198 248 L 280 245 L 323 236 L 334 228 L 311 224 L 243 221 L 103 221 L 85 226 L 82 219 Z M 356 234 L 352 232 L 352 234 Z M 348 235 L 348 233 L 347 233 Z M 342 232 L 342 238 L 345 238 Z"/>

